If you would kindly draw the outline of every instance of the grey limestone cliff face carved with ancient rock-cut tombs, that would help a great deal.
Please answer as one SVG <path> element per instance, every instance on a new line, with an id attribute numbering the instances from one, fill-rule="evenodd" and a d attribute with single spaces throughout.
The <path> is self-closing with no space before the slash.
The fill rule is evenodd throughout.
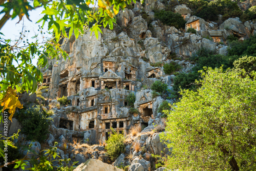
<path id="1" fill-rule="evenodd" d="M 253 3 L 250 2 L 251 5 Z M 161 80 L 172 89 L 175 77 L 164 73 L 163 64 L 173 62 L 172 58 L 185 59 L 201 47 L 225 55 L 228 35 L 233 34 L 243 40 L 256 33 L 255 22 L 242 23 L 239 18 L 229 18 L 219 24 L 206 22 L 191 16 L 192 11 L 184 4 L 174 7 L 174 11 L 187 21 L 185 30 L 178 30 L 154 20 L 151 9 L 162 9 L 164 4 L 161 1 L 147 0 L 145 4 L 135 3 L 132 10 L 120 11 L 114 30 L 102 28 L 98 37 L 94 33 L 90 36 L 91 32 L 87 30 L 77 38 L 74 35 L 70 39 L 65 38 L 62 48 L 69 59 L 64 60 L 61 56 L 58 61 L 49 59 L 52 68 L 41 69 L 44 75 L 41 85 L 49 86 L 42 95 L 51 99 L 67 96 L 71 101 L 70 106 L 54 107 L 53 130 L 86 130 L 90 131 L 88 136 L 96 132 L 93 139 L 96 142 L 97 139 L 107 139 L 111 127 L 126 134 L 132 125 L 148 126 L 150 120 L 160 116 L 157 108 L 168 96 L 167 93 L 153 98 L 150 86 Z M 153 20 L 152 32 L 141 16 L 142 9 Z M 197 33 L 186 33 L 190 27 Z M 159 62 L 162 65 L 156 67 L 155 63 Z M 179 72 L 190 72 L 194 66 L 185 60 L 174 62 L 182 66 Z M 136 97 L 134 107 L 138 114 L 129 113 L 130 108 L 127 108 L 125 99 L 131 93 Z M 68 133 L 72 139 L 74 133 Z"/>

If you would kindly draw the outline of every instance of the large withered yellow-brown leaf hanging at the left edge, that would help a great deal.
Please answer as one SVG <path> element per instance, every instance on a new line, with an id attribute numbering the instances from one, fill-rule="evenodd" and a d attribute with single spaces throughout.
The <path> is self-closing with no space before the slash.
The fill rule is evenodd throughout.
<path id="1" fill-rule="evenodd" d="M 7 94 L 4 96 L 1 102 L 1 106 L 4 105 L 3 110 L 9 109 L 9 119 L 12 121 L 13 114 L 15 113 L 16 107 L 22 109 L 23 106 L 20 104 L 17 94 L 13 91 L 11 87 L 7 89 Z"/>

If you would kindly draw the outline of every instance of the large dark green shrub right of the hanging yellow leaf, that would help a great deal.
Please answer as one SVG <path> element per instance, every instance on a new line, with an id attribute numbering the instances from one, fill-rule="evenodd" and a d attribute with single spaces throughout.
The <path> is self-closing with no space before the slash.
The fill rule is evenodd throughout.
<path id="1" fill-rule="evenodd" d="M 42 142 L 46 139 L 51 119 L 40 111 L 39 105 L 19 110 L 15 117 L 22 124 L 22 133 L 27 136 L 27 140 Z"/>

